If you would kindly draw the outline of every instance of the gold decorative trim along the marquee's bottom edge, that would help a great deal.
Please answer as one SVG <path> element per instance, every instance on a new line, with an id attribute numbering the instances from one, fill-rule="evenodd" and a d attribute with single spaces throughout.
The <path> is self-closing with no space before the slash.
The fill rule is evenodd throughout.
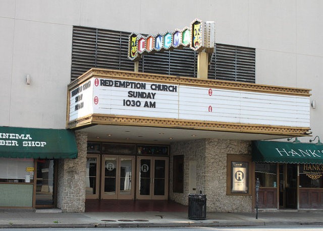
<path id="1" fill-rule="evenodd" d="M 310 128 L 266 126 L 253 124 L 202 122 L 163 118 L 131 117 L 122 115 L 91 114 L 67 123 L 68 129 L 80 129 L 91 125 L 143 126 L 173 129 L 189 129 L 214 132 L 236 132 L 284 136 L 308 136 Z"/>

